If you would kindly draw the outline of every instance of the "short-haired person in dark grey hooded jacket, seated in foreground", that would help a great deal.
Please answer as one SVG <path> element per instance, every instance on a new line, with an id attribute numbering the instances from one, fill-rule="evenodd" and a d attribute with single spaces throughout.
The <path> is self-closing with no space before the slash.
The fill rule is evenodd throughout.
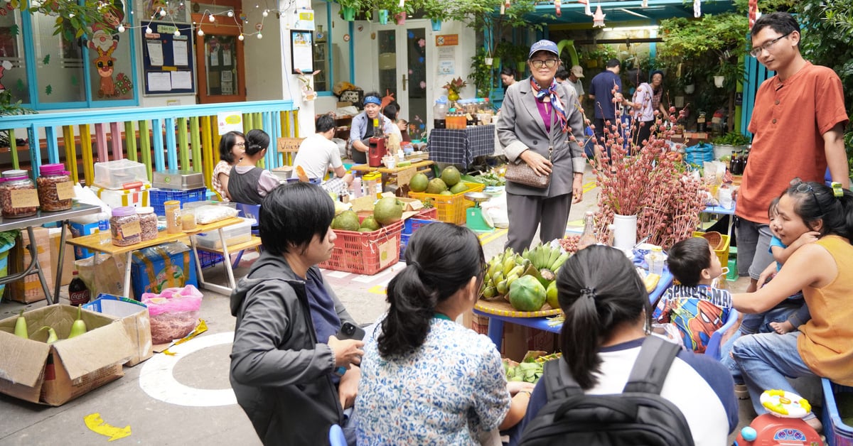
<path id="1" fill-rule="evenodd" d="M 332 217 L 319 186 L 270 191 L 258 217 L 264 252 L 231 293 L 231 386 L 264 444 L 328 444 L 335 424 L 355 443 L 345 409 L 355 402 L 363 342 L 335 337 L 355 321 L 316 267 L 332 256 Z"/>

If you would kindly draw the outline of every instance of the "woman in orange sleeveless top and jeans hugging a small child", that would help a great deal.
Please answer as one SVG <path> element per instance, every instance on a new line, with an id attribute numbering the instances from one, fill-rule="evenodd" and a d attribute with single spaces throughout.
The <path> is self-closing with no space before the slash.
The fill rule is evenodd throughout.
<path id="1" fill-rule="evenodd" d="M 837 182 L 791 183 L 779 199 L 780 239 L 816 231 L 818 240 L 800 246 L 772 281 L 755 293 L 732 295 L 734 308 L 757 313 L 773 308 L 803 290 L 811 320 L 791 333 L 759 333 L 734 341 L 732 355 L 743 373 L 757 414 L 767 412 L 759 402 L 768 389 L 793 391 L 786 377 L 820 376 L 840 385 L 853 385 L 853 193 Z M 771 265 L 773 266 L 773 265 Z M 765 274 L 758 280 L 763 283 Z M 815 429 L 814 414 L 805 419 Z"/>

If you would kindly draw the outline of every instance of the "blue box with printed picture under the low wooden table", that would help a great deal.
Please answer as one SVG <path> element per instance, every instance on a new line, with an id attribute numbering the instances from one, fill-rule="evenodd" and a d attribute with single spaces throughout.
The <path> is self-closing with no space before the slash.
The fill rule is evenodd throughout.
<path id="1" fill-rule="evenodd" d="M 133 252 L 131 286 L 136 300 L 142 300 L 142 293 L 187 285 L 199 286 L 189 246 L 174 242 Z"/>

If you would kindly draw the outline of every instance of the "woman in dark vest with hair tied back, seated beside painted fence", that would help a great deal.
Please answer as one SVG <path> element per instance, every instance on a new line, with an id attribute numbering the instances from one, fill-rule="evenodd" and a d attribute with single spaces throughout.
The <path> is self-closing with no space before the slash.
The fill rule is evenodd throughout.
<path id="1" fill-rule="evenodd" d="M 259 205 L 272 189 L 281 184 L 272 172 L 257 166 L 270 147 L 270 136 L 264 130 L 253 129 L 246 134 L 246 153 L 229 174 L 228 194 L 231 201 Z"/>

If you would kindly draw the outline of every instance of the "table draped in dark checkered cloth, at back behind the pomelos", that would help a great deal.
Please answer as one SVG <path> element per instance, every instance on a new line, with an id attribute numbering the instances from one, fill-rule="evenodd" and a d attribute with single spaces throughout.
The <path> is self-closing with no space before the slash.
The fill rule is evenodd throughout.
<path id="1" fill-rule="evenodd" d="M 464 130 L 433 129 L 427 150 L 433 161 L 467 169 L 474 158 L 495 153 L 495 125 L 474 125 Z"/>

